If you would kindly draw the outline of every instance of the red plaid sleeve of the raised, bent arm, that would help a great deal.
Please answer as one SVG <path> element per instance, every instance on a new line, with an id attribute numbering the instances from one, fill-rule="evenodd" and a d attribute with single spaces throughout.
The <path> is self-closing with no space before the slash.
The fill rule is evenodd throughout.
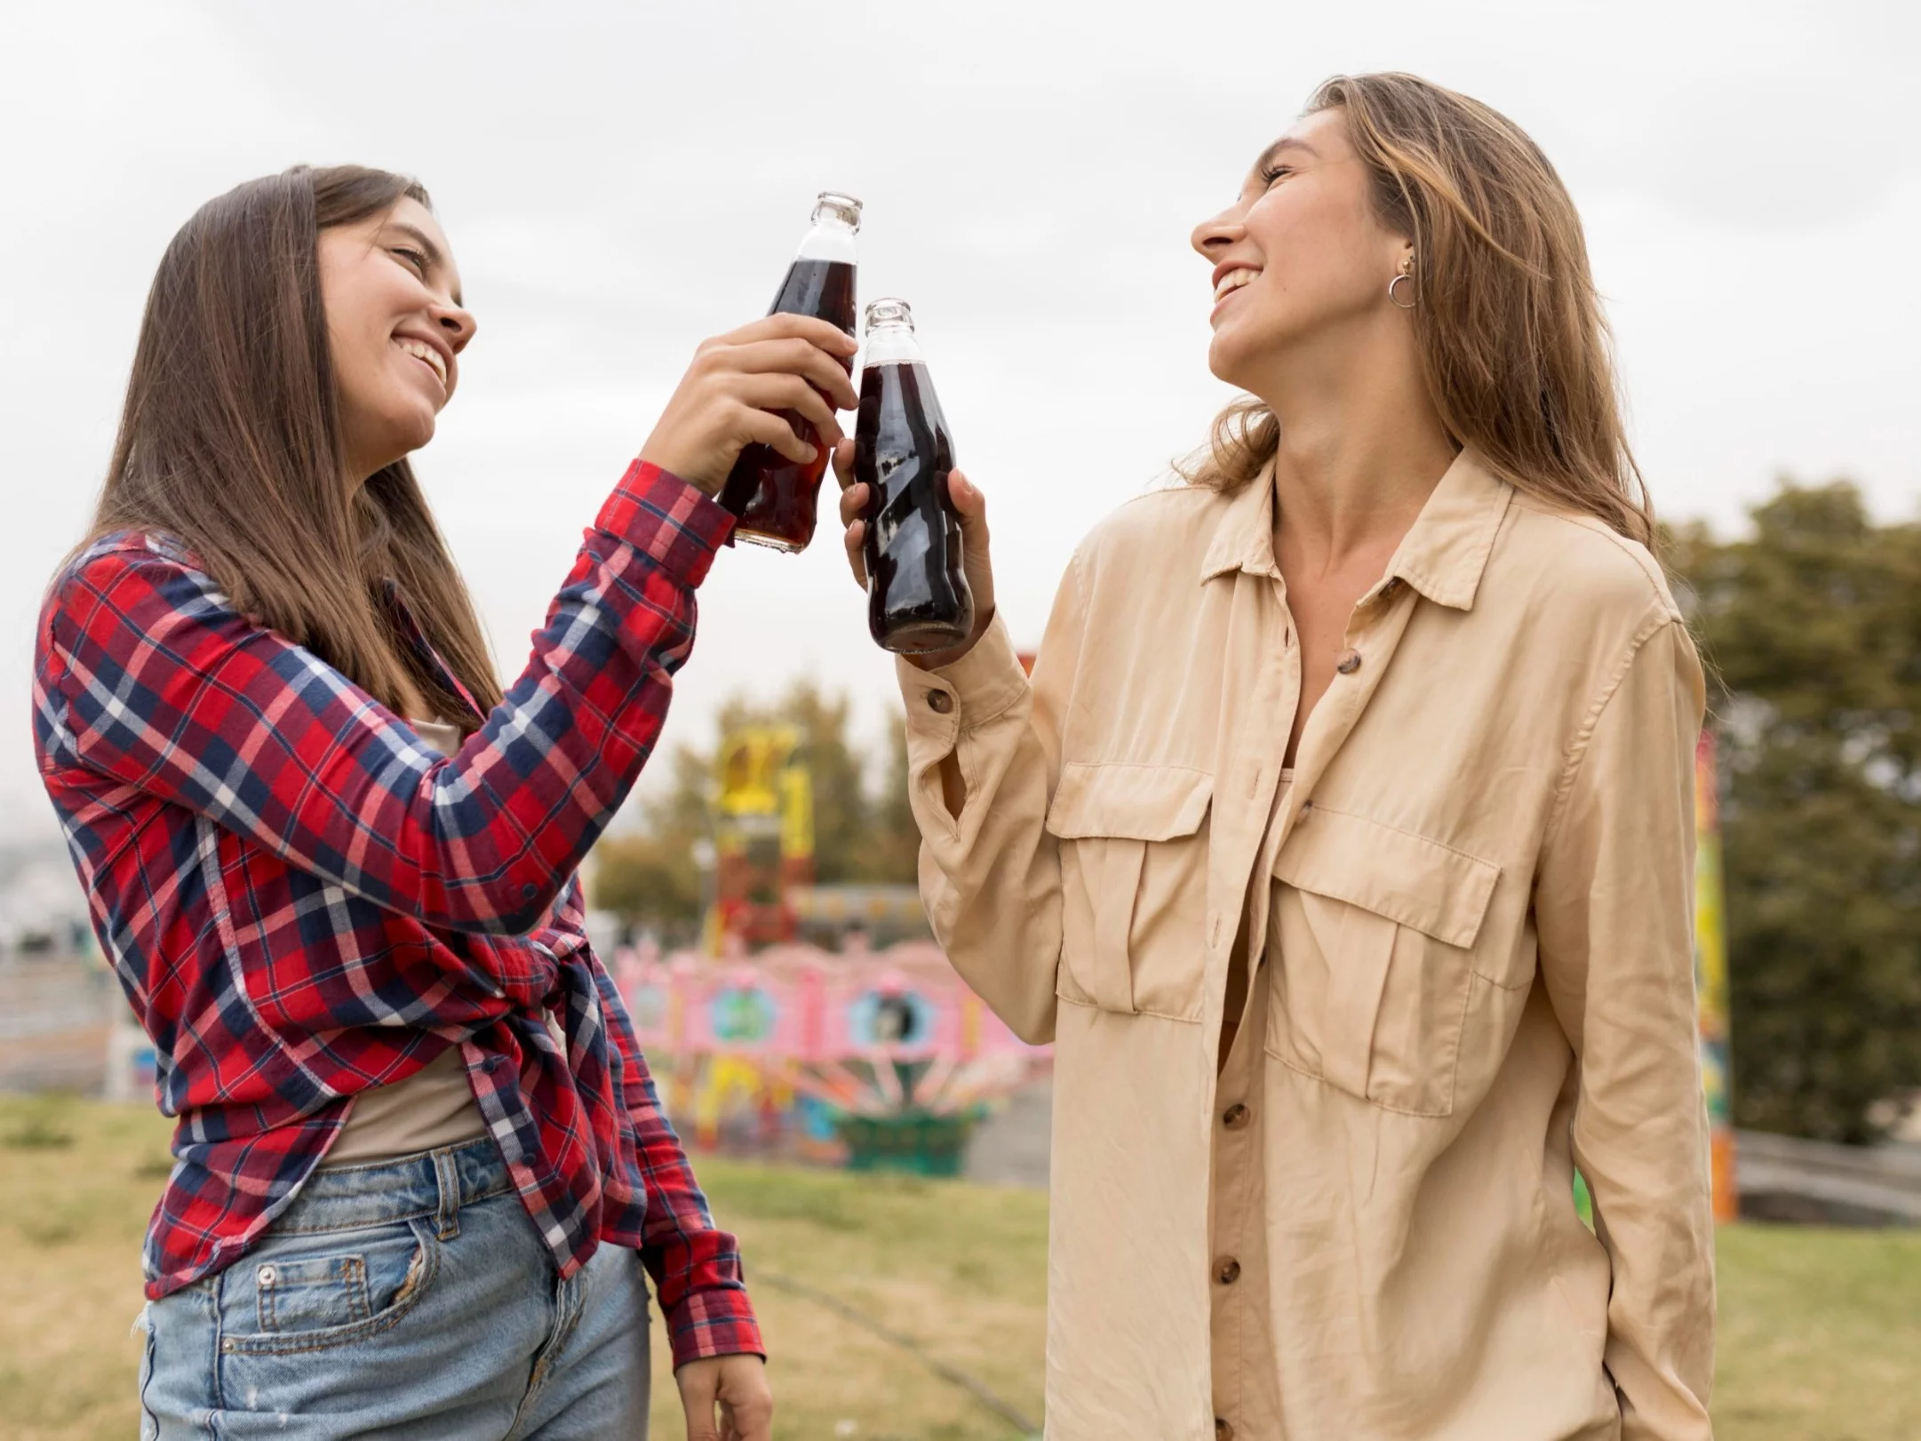
<path id="1" fill-rule="evenodd" d="M 613 818 L 693 646 L 732 517 L 636 461 L 586 532 L 521 678 L 451 759 L 242 615 L 165 540 L 108 538 L 48 599 L 42 767 L 136 788 L 430 926 L 534 926 Z"/>

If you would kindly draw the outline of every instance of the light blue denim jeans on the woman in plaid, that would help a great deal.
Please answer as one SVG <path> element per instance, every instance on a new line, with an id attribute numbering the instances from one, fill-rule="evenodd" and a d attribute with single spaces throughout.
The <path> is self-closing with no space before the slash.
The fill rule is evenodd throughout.
<path id="1" fill-rule="evenodd" d="M 571 1280 L 494 1141 L 307 1178 L 261 1243 L 146 1308 L 140 1437 L 647 1435 L 647 1285 Z"/>

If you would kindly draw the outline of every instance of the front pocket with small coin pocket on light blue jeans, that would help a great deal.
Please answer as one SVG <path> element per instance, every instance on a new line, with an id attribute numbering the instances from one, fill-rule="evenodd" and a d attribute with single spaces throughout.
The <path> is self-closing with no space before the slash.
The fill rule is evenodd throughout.
<path id="1" fill-rule="evenodd" d="M 221 1278 L 223 1345 L 240 1355 L 350 1345 L 413 1310 L 438 1270 L 440 1241 L 421 1220 L 269 1233 Z"/>

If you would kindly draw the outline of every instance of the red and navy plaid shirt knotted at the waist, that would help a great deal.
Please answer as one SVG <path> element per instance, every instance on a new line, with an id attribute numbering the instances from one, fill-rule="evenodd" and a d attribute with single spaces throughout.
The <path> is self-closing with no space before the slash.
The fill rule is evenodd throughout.
<path id="1" fill-rule="evenodd" d="M 459 1047 L 561 1274 L 634 1247 L 676 1364 L 763 1351 L 574 878 L 661 732 L 730 530 L 636 461 L 526 671 L 451 759 L 163 536 L 109 536 L 60 574 L 35 653 L 40 774 L 179 1118 L 148 1297 L 246 1255 L 355 1093 Z"/>

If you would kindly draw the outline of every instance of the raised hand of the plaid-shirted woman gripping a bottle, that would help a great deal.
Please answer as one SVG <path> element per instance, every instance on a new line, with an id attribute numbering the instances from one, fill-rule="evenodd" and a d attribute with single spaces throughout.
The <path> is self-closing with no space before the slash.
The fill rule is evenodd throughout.
<path id="1" fill-rule="evenodd" d="M 815 448 L 778 411 L 799 413 L 822 444 L 838 444 L 834 411 L 861 403 L 845 369 L 857 350 L 851 334 L 807 315 L 768 315 L 715 336 L 693 354 L 640 459 L 707 496 L 720 494 L 740 452 L 755 442 L 807 463 Z"/>

